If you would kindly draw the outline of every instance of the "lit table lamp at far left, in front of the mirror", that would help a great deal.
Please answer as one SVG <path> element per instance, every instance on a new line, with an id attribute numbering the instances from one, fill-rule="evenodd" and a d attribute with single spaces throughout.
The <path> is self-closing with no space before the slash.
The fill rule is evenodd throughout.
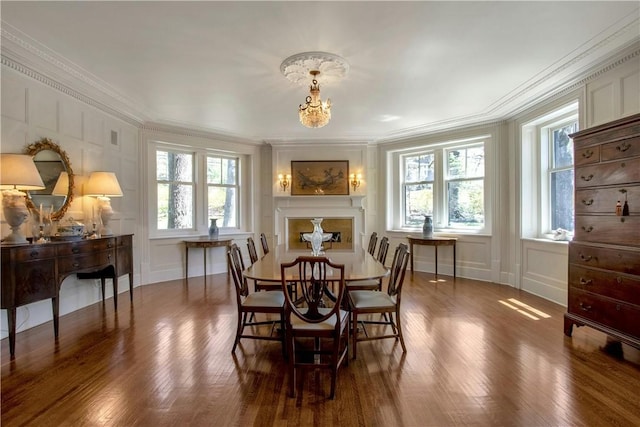
<path id="1" fill-rule="evenodd" d="M 3 243 L 27 243 L 20 226 L 29 216 L 26 193 L 20 190 L 43 190 L 45 188 L 33 157 L 27 154 L 0 154 L 0 189 L 4 219 L 11 227 Z"/>

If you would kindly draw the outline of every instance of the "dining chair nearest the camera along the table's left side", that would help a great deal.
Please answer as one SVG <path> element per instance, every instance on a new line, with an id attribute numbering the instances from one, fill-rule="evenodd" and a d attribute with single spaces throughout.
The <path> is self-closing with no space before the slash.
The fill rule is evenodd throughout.
<path id="1" fill-rule="evenodd" d="M 240 253 L 240 248 L 238 248 L 237 244 L 234 243 L 231 245 L 227 252 L 227 259 L 229 261 L 229 268 L 231 270 L 231 276 L 233 277 L 233 283 L 236 289 L 236 304 L 238 306 L 238 326 L 231 352 L 234 353 L 236 351 L 236 347 L 240 343 L 241 338 L 251 338 L 257 340 L 281 341 L 282 352 L 283 354 L 286 354 L 284 337 L 282 335 L 282 331 L 284 330 L 284 295 L 282 291 L 249 292 L 247 280 L 242 274 L 242 271 L 244 270 L 242 254 Z M 267 315 L 267 320 L 253 320 L 256 314 Z M 276 320 L 269 319 L 269 315 L 272 314 L 277 314 L 278 318 Z M 255 334 L 244 333 L 244 329 L 247 326 L 264 327 L 265 325 L 270 325 L 269 334 L 259 334 L 257 331 Z M 278 326 L 280 333 L 278 332 Z"/>

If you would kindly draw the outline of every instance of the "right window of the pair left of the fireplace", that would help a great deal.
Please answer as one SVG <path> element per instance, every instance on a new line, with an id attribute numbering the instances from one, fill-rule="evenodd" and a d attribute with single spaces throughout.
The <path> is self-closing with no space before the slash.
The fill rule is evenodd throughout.
<path id="1" fill-rule="evenodd" d="M 238 159 L 207 156 L 207 213 L 222 227 L 238 226 Z"/>

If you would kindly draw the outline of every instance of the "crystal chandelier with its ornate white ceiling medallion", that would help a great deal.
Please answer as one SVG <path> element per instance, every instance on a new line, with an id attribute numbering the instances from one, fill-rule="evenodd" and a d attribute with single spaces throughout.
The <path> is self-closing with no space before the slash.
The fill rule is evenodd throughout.
<path id="1" fill-rule="evenodd" d="M 311 76 L 310 95 L 298 107 L 300 123 L 308 128 L 321 128 L 331 120 L 331 100 L 322 102 L 320 84 L 342 80 L 349 71 L 344 58 L 326 52 L 305 52 L 290 56 L 280 65 L 282 74 L 296 84 L 305 84 Z"/>

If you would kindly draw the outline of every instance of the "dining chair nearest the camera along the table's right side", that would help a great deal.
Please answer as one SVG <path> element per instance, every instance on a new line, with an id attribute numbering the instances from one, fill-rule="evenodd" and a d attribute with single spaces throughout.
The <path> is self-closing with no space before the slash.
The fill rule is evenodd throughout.
<path id="1" fill-rule="evenodd" d="M 395 338 L 400 340 L 402 352 L 406 353 L 407 348 L 402 336 L 402 323 L 400 318 L 400 302 L 402 295 L 402 284 L 407 271 L 409 261 L 409 248 L 406 244 L 400 243 L 396 248 L 389 274 L 387 292 L 370 290 L 349 290 L 348 300 L 351 310 L 352 336 L 353 336 L 353 358 L 357 355 L 358 341 L 379 340 L 384 338 Z M 372 316 L 358 320 L 360 315 L 382 314 L 381 320 L 373 320 Z M 395 314 L 395 320 L 394 320 Z M 362 326 L 362 334 L 358 334 L 358 324 Z M 369 334 L 367 325 L 383 325 L 379 333 Z M 388 327 L 391 328 L 389 333 Z"/>

